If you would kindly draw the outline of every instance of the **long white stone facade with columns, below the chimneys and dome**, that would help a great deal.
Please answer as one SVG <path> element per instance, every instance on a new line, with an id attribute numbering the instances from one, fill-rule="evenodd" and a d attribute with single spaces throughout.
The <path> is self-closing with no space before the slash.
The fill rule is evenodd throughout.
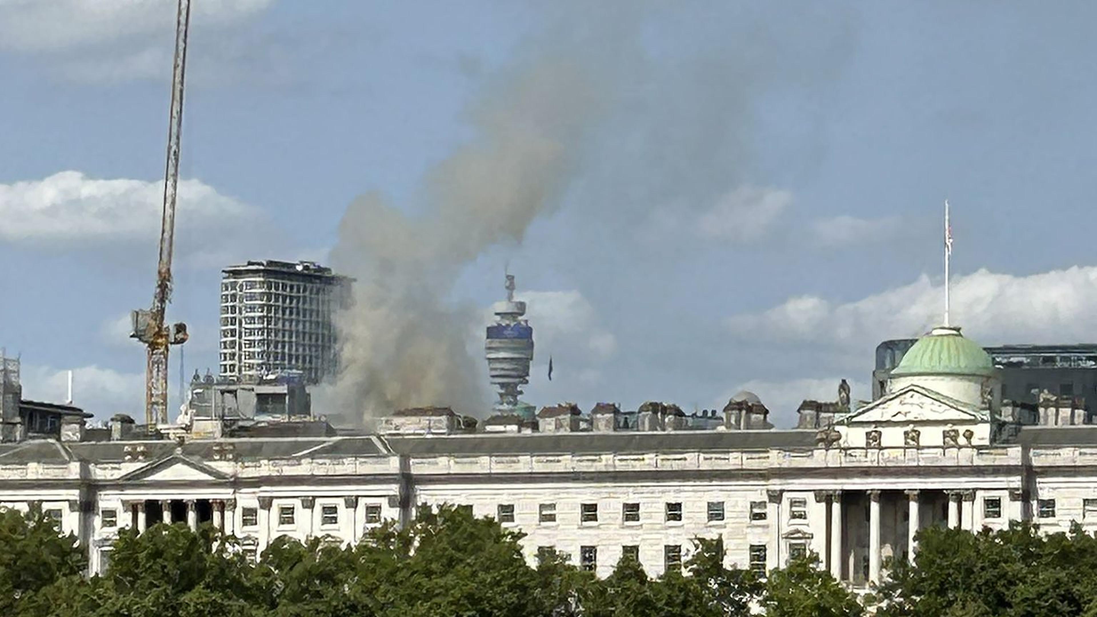
<path id="1" fill-rule="evenodd" d="M 93 571 L 127 526 L 210 521 L 261 551 L 282 535 L 353 542 L 384 519 L 408 520 L 421 503 L 472 506 L 523 531 L 531 561 L 553 547 L 600 575 L 625 550 L 638 551 L 657 575 L 688 559 L 692 538 L 721 536 L 728 563 L 773 568 L 813 551 L 822 566 L 861 584 L 879 577 L 889 557 L 908 553 L 912 520 L 979 529 L 1033 519 L 1049 531 L 1076 520 L 1097 529 L 1097 430 L 1089 427 L 1025 429 L 1017 444 L 957 447 L 827 448 L 816 437 L 27 441 L 0 451 L 0 506 L 57 516 L 63 531 L 88 546 Z"/>

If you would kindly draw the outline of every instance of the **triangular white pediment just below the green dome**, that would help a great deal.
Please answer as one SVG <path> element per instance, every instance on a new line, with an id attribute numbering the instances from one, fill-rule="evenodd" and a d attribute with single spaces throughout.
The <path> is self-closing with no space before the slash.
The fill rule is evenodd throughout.
<path id="1" fill-rule="evenodd" d="M 972 423 L 985 413 L 920 385 L 907 385 L 842 417 L 840 424 Z"/>

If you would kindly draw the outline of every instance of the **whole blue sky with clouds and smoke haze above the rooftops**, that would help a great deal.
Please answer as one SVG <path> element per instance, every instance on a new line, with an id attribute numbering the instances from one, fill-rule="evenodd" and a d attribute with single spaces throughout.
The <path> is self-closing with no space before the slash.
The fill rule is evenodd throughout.
<path id="1" fill-rule="evenodd" d="M 219 267 L 315 258 L 365 280 L 366 313 L 426 298 L 359 340 L 374 377 L 355 395 L 460 390 L 475 412 L 509 266 L 538 333 L 532 402 L 711 407 L 749 388 L 789 424 L 841 378 L 867 396 L 875 344 L 939 318 L 946 197 L 970 336 L 1097 338 L 1092 3 L 194 5 L 171 308 L 188 372 L 216 364 Z M 0 344 L 29 397 L 64 397 L 72 369 L 78 404 L 140 414 L 123 324 L 151 296 L 173 16 L 0 0 Z M 552 165 L 461 162 L 527 126 Z M 476 191 L 540 182 L 528 215 L 477 218 Z M 387 224 L 430 245 L 394 270 L 418 282 L 383 279 L 406 248 Z M 473 356 L 395 349 L 443 338 Z M 437 383 L 392 368 L 423 361 Z"/>

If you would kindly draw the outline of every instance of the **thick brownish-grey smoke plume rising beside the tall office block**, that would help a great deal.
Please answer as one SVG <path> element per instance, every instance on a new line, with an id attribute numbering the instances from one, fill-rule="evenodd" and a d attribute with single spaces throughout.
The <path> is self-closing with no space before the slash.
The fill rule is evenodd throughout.
<path id="1" fill-rule="evenodd" d="M 377 193 L 348 206 L 331 259 L 357 281 L 339 319 L 333 412 L 358 422 L 407 406 L 486 406 L 483 360 L 465 339 L 478 313 L 446 296 L 463 266 L 520 243 L 558 205 L 601 106 L 600 85 L 578 58 L 532 57 L 471 106 L 474 137 L 427 173 L 416 214 Z"/>

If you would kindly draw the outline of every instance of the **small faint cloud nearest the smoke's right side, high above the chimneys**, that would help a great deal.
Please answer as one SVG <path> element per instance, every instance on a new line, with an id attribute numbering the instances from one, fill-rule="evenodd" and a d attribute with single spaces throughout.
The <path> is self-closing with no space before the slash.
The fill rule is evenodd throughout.
<path id="1" fill-rule="evenodd" d="M 792 203 L 792 193 L 742 186 L 724 194 L 697 221 L 703 237 L 749 242 L 766 235 Z"/>

